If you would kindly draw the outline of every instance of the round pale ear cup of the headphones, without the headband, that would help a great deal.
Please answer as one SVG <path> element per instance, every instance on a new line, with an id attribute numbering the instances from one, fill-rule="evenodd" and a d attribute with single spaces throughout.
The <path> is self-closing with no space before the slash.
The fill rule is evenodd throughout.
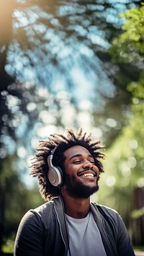
<path id="1" fill-rule="evenodd" d="M 60 167 L 50 167 L 50 169 L 48 170 L 48 180 L 55 187 L 62 185 L 63 172 Z"/>

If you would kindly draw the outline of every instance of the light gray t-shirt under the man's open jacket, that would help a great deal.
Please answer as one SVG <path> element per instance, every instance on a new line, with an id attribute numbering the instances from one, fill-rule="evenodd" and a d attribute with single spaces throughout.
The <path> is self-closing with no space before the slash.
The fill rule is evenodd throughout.
<path id="1" fill-rule="evenodd" d="M 107 256 L 102 237 L 91 212 L 84 219 L 66 215 L 69 234 L 67 256 Z"/>

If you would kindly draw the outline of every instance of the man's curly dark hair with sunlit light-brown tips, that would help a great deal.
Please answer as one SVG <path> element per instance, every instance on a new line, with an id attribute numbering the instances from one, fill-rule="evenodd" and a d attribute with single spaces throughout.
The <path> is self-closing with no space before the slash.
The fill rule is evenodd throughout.
<path id="1" fill-rule="evenodd" d="M 54 133 L 50 135 L 47 141 L 40 141 L 37 153 L 34 159 L 32 159 L 30 173 L 33 177 L 37 177 L 40 194 L 45 200 L 50 200 L 60 194 L 59 187 L 54 187 L 48 180 L 48 156 L 55 147 L 58 147 L 53 155 L 53 165 L 60 167 L 63 171 L 64 151 L 76 145 L 84 146 L 94 156 L 99 173 L 104 172 L 102 163 L 98 159 L 104 159 L 105 154 L 97 151 L 104 149 L 104 145 L 101 145 L 99 140 L 91 141 L 91 134 L 82 133 L 82 128 L 77 132 L 71 128 L 66 128 L 66 136 Z"/>

